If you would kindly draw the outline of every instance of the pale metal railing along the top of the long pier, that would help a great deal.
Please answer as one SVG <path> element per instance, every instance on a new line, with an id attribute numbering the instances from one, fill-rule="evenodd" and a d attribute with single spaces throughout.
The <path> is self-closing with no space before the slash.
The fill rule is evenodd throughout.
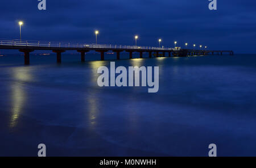
<path id="1" fill-rule="evenodd" d="M 177 48 L 160 47 L 139 47 L 131 45 L 111 45 L 111 44 L 83 44 L 69 42 L 51 42 L 35 40 L 9 40 L 0 39 L 0 45 L 27 46 L 27 47 L 59 47 L 59 48 L 96 48 L 96 49 L 146 49 L 146 50 L 179 50 Z"/>

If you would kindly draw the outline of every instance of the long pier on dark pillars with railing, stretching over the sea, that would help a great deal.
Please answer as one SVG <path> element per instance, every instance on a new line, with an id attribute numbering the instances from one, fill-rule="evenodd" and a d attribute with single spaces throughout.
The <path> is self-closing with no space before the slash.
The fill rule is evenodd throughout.
<path id="1" fill-rule="evenodd" d="M 30 64 L 30 53 L 36 50 L 52 51 L 56 53 L 56 62 L 61 63 L 61 53 L 65 51 L 77 51 L 81 53 L 81 62 L 85 62 L 85 54 L 89 51 L 96 51 L 101 54 L 101 60 L 105 60 L 105 52 L 115 52 L 116 59 L 120 59 L 121 52 L 129 52 L 129 58 L 133 58 L 133 53 L 138 52 L 139 57 L 143 58 L 143 54 L 147 53 L 149 58 L 155 57 L 187 57 L 209 54 L 230 54 L 233 51 L 209 51 L 196 49 L 180 49 L 180 48 L 160 48 L 160 47 L 138 47 L 129 45 L 101 45 L 101 44 L 79 44 L 59 42 L 52 43 L 47 41 L 28 41 L 28 40 L 0 40 L 0 49 L 17 49 L 24 53 L 24 64 Z M 152 54 L 153 53 L 153 54 Z"/>

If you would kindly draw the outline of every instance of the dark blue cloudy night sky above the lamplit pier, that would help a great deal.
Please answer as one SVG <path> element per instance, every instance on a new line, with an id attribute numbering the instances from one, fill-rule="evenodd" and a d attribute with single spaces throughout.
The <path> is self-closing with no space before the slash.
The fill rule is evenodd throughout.
<path id="1" fill-rule="evenodd" d="M 47 0 L 38 10 L 36 0 L 1 0 L 0 38 L 165 47 L 174 41 L 207 45 L 236 53 L 256 53 L 256 1 L 217 0 L 217 11 L 208 0 Z M 192 47 L 191 47 L 192 48 Z M 2 51 L 3 52 L 3 51 Z"/>

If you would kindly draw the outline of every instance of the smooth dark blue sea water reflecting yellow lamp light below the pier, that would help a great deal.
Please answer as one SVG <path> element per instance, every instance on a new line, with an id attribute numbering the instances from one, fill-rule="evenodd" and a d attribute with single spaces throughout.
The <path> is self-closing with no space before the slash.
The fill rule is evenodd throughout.
<path id="1" fill-rule="evenodd" d="M 155 94 L 98 87 L 109 60 L 62 60 L 0 57 L 0 156 L 256 156 L 256 55 L 115 61 L 159 66 Z"/>

